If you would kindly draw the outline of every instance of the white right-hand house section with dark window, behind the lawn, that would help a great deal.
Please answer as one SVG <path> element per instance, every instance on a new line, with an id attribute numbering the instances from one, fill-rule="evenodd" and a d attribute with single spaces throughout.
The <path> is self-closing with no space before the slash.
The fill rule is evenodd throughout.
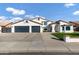
<path id="1" fill-rule="evenodd" d="M 59 20 L 48 25 L 50 32 L 74 32 L 73 25 L 69 22 Z"/>

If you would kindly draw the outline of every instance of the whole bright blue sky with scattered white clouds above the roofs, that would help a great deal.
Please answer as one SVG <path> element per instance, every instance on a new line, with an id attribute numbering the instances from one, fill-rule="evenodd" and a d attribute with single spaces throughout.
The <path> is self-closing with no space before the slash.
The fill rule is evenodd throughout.
<path id="1" fill-rule="evenodd" d="M 11 21 L 43 17 L 48 20 L 79 20 L 79 4 L 74 3 L 0 3 L 0 19 Z"/>

